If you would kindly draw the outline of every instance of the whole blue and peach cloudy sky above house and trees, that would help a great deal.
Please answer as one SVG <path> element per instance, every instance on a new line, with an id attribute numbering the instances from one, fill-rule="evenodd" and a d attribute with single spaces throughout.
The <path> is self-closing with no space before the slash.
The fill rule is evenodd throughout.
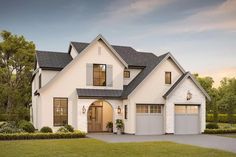
<path id="1" fill-rule="evenodd" d="M 0 0 L 1 30 L 59 52 L 102 34 L 110 44 L 171 52 L 215 86 L 236 77 L 236 0 Z"/>

